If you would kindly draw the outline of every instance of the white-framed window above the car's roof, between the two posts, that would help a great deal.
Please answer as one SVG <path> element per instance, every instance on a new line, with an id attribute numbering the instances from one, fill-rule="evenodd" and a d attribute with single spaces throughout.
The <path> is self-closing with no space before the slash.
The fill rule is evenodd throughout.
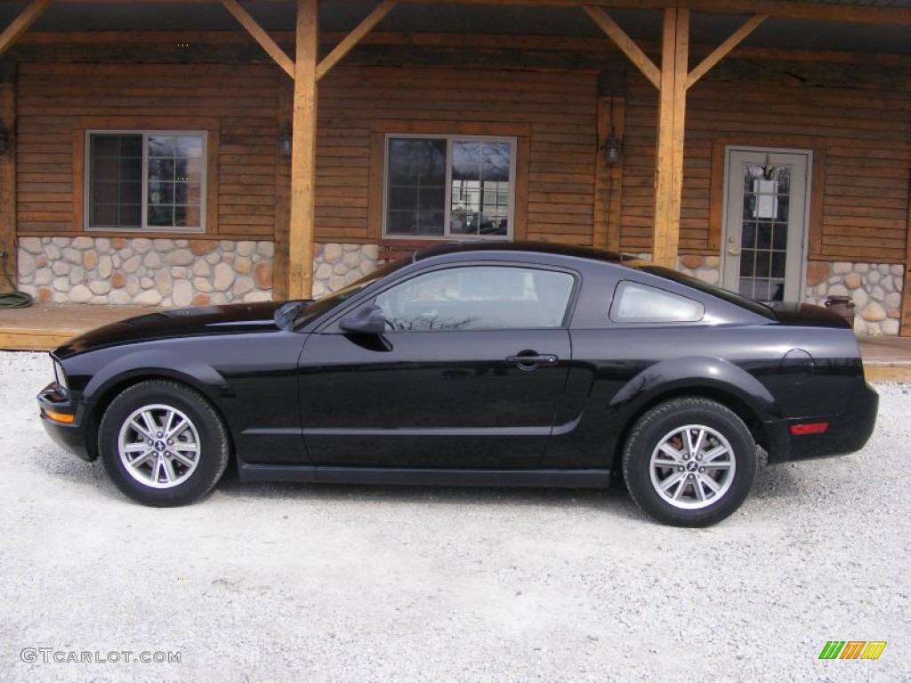
<path id="1" fill-rule="evenodd" d="M 384 173 L 384 237 L 512 237 L 516 138 L 387 134 Z"/>

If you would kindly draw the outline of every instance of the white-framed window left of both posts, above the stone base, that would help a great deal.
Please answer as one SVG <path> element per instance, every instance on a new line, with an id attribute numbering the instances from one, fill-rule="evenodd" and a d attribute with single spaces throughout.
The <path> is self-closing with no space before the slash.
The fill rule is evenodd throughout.
<path id="1" fill-rule="evenodd" d="M 87 229 L 203 232 L 206 142 L 199 130 L 87 130 Z"/>

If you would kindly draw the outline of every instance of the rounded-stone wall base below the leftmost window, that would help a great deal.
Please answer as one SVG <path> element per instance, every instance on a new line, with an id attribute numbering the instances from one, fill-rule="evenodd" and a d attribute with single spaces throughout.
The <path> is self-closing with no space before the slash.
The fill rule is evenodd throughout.
<path id="1" fill-rule="evenodd" d="M 19 289 L 55 303 L 268 301 L 274 253 L 271 241 L 25 237 Z"/>

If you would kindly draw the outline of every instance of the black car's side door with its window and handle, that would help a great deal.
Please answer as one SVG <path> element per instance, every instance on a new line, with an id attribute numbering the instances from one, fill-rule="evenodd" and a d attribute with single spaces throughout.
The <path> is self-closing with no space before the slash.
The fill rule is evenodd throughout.
<path id="1" fill-rule="evenodd" d="M 299 374 L 314 463 L 529 468 L 548 441 L 570 362 L 576 277 L 512 265 L 425 271 L 364 306 L 383 334 L 310 335 Z"/>

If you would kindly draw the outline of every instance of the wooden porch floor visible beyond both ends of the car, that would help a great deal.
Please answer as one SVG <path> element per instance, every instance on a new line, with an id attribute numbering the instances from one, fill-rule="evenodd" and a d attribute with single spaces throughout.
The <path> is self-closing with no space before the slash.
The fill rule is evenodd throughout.
<path id="1" fill-rule="evenodd" d="M 83 331 L 152 311 L 159 309 L 54 304 L 0 309 L 0 349 L 48 351 Z M 911 338 L 861 337 L 860 348 L 870 382 L 911 382 Z"/>

